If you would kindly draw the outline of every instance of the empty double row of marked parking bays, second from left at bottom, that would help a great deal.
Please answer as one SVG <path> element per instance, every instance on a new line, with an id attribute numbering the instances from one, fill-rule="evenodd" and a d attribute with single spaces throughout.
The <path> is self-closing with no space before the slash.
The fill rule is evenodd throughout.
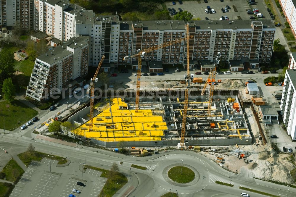
<path id="1" fill-rule="evenodd" d="M 39 179 L 31 196 L 49 196 L 60 177 L 60 175 L 45 172 Z"/>

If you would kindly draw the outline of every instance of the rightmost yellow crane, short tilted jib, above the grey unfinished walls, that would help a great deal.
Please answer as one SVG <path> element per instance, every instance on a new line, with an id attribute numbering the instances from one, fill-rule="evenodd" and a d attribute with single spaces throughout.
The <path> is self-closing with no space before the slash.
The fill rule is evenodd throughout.
<path id="1" fill-rule="evenodd" d="M 215 77 L 216 77 L 216 65 L 219 64 L 221 57 L 221 52 L 218 52 L 216 59 L 214 60 L 213 69 L 209 77 L 207 78 L 207 81 L 205 82 L 205 85 L 202 89 L 201 95 L 204 95 L 205 89 L 207 88 L 207 84 L 211 82 L 210 85 L 210 98 L 209 98 L 209 106 L 207 108 L 207 113 L 211 114 L 212 111 L 212 101 L 213 101 L 213 94 L 214 94 L 214 88 L 215 88 Z"/>

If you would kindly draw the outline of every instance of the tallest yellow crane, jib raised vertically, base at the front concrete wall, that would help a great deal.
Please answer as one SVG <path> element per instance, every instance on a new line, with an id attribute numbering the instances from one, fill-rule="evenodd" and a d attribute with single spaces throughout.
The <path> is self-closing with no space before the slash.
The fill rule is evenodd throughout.
<path id="1" fill-rule="evenodd" d="M 190 81 L 191 77 L 189 75 L 189 23 L 187 23 L 186 25 L 186 44 L 187 44 L 187 77 L 186 77 L 186 88 L 185 88 L 184 112 L 183 112 L 182 128 L 181 128 L 181 141 L 180 141 L 181 150 L 186 148 L 184 144 L 184 138 L 185 138 L 186 116 L 187 116 L 187 108 L 188 108 L 188 91 L 189 91 L 190 82 L 191 82 Z"/>

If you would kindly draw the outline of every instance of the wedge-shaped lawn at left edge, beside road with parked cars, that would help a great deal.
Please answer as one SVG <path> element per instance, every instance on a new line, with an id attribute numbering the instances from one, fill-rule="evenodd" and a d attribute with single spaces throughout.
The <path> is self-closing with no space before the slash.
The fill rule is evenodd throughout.
<path id="1" fill-rule="evenodd" d="M 8 101 L 0 102 L 0 128 L 4 129 L 5 124 L 5 130 L 13 130 L 22 126 L 37 114 L 36 110 L 17 100 L 12 101 L 12 103 Z"/>

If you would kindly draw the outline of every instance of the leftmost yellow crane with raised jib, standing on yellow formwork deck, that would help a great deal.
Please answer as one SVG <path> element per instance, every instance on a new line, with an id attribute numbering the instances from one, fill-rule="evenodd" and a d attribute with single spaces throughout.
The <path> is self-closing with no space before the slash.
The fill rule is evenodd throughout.
<path id="1" fill-rule="evenodd" d="M 92 131 L 93 127 L 93 117 L 94 117 L 94 84 L 98 81 L 98 78 L 96 78 L 96 75 L 98 75 L 100 68 L 102 66 L 102 63 L 104 62 L 105 55 L 102 56 L 102 59 L 98 65 L 98 68 L 96 69 L 96 72 L 94 74 L 94 77 L 91 79 L 89 88 L 87 89 L 86 93 L 89 94 L 89 91 L 91 91 L 91 105 L 90 105 L 90 112 L 89 112 L 89 130 Z"/>

